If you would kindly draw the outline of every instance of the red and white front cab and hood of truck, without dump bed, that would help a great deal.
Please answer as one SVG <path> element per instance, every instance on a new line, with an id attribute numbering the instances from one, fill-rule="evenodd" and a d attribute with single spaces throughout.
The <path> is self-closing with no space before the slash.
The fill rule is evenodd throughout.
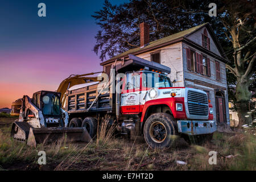
<path id="1" fill-rule="evenodd" d="M 144 137 L 151 146 L 162 146 L 168 134 L 176 133 L 187 139 L 212 135 L 216 131 L 207 93 L 194 88 L 172 87 L 170 78 L 155 70 L 141 69 L 125 74 L 120 112 L 139 115 L 141 131 L 144 130 Z M 145 126 L 148 127 L 146 131 Z M 170 127 L 169 133 L 167 127 Z"/>

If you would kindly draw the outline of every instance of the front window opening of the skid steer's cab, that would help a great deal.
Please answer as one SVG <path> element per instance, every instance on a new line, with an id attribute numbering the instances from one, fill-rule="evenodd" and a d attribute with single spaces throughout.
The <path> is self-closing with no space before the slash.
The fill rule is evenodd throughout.
<path id="1" fill-rule="evenodd" d="M 42 102 L 44 115 L 60 115 L 60 98 L 56 94 L 44 94 Z"/>

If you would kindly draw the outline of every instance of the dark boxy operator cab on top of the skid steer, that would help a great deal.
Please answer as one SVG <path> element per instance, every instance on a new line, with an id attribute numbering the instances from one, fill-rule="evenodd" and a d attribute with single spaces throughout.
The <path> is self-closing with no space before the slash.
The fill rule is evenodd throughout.
<path id="1" fill-rule="evenodd" d="M 33 94 L 32 101 L 42 110 L 44 116 L 59 118 L 61 115 L 60 95 L 59 92 L 42 90 Z"/>

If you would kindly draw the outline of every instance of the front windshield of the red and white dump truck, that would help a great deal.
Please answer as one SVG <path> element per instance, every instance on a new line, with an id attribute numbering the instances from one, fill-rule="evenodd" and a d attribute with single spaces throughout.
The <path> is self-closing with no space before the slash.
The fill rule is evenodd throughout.
<path id="1" fill-rule="evenodd" d="M 172 87 L 170 78 L 159 73 L 143 72 L 142 83 L 147 88 L 167 88 Z"/>

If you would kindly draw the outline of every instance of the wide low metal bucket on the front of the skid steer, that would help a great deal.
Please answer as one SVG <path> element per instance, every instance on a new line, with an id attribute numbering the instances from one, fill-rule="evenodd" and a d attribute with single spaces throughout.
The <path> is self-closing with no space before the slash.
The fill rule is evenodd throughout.
<path id="1" fill-rule="evenodd" d="M 39 143 L 55 142 L 59 139 L 65 139 L 66 142 L 90 142 L 88 131 L 85 127 L 54 127 L 54 128 L 30 128 L 28 134 L 28 146 L 36 147 Z"/>

